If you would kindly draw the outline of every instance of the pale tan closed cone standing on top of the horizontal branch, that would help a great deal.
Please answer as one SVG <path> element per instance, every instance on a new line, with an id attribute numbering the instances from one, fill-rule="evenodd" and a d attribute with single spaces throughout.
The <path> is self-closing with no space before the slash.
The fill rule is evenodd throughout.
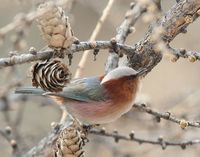
<path id="1" fill-rule="evenodd" d="M 38 12 L 45 12 L 37 18 L 37 22 L 49 47 L 68 48 L 77 40 L 61 7 L 46 2 L 39 5 Z"/>

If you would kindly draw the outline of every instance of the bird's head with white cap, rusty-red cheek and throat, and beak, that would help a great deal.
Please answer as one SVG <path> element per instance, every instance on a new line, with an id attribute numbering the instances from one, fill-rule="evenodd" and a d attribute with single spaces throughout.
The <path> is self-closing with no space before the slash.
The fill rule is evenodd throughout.
<path id="1" fill-rule="evenodd" d="M 118 67 L 110 71 L 101 80 L 101 85 L 112 101 L 119 106 L 132 103 L 140 89 L 139 76 L 144 71 L 136 71 L 130 67 Z"/>

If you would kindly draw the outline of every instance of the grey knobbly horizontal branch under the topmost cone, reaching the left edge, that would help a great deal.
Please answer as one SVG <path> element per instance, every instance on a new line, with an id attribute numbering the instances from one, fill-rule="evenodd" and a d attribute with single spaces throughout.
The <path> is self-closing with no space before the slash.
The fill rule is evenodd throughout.
<path id="1" fill-rule="evenodd" d="M 128 45 L 117 44 L 116 46 L 118 46 L 119 49 L 121 49 L 127 54 L 128 53 L 131 54 L 134 51 L 134 47 L 131 47 Z M 71 51 L 72 53 L 75 53 L 78 51 L 90 50 L 90 49 L 95 49 L 95 48 L 109 49 L 112 47 L 113 45 L 111 44 L 110 41 L 81 42 L 78 45 L 73 44 L 69 51 Z M 55 58 L 55 57 L 58 57 L 57 53 L 52 49 L 35 52 L 34 54 L 27 53 L 27 54 L 13 55 L 9 58 L 0 58 L 0 69 L 3 67 L 12 66 L 16 64 L 23 64 L 23 63 L 28 63 L 28 62 L 38 61 L 38 60 Z"/>

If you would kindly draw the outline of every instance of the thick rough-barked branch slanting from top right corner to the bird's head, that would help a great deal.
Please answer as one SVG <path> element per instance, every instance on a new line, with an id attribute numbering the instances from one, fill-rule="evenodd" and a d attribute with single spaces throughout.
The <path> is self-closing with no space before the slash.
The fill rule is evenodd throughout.
<path id="1" fill-rule="evenodd" d="M 161 39 L 168 45 L 183 29 L 199 17 L 200 1 L 183 0 L 175 4 L 156 23 L 153 23 L 144 39 L 135 44 L 136 52 L 129 55 L 129 66 L 134 69 L 146 67 L 149 71 L 162 59 L 162 54 L 154 49 L 154 30 L 161 27 Z"/>

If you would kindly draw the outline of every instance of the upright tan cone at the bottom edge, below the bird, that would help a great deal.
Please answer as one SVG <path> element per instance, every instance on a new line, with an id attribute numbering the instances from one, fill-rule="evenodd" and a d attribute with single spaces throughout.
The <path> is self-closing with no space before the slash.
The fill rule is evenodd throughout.
<path id="1" fill-rule="evenodd" d="M 84 139 L 74 127 L 69 127 L 60 133 L 55 146 L 56 157 L 83 157 Z"/>

